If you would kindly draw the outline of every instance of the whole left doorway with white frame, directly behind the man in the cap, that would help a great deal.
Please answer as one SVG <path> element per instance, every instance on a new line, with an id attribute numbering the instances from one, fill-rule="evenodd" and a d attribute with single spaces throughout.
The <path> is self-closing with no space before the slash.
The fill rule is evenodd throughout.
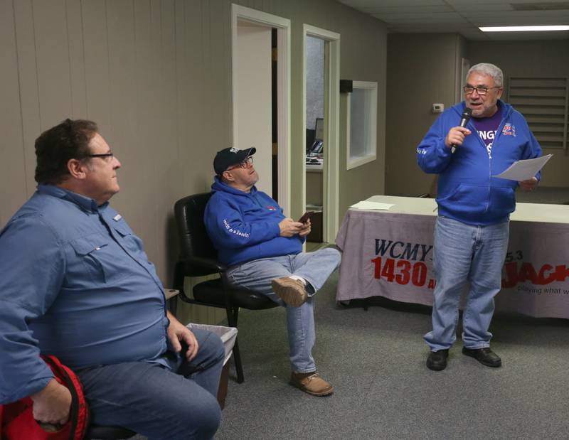
<path id="1" fill-rule="evenodd" d="M 236 4 L 231 14 L 233 146 L 255 146 L 257 188 L 290 213 L 290 21 Z"/>

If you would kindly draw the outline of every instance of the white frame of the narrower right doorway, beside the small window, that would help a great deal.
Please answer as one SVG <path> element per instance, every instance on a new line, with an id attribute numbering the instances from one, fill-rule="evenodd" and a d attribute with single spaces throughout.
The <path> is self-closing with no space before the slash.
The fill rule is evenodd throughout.
<path id="1" fill-rule="evenodd" d="M 322 167 L 323 223 L 322 240 L 333 243 L 339 229 L 339 125 L 340 125 L 340 34 L 304 23 L 302 25 L 302 139 L 306 151 L 307 131 L 307 36 L 320 38 L 328 45 L 324 58 L 324 140 L 326 153 Z M 306 161 L 302 161 L 302 208 L 307 204 Z"/>

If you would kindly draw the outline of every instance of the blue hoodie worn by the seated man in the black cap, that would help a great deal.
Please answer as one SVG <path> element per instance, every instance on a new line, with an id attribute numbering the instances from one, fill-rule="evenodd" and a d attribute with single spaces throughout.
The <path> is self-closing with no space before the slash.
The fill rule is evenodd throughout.
<path id="1" fill-rule="evenodd" d="M 211 191 L 203 221 L 220 262 L 234 266 L 302 251 L 304 239 L 280 236 L 279 223 L 285 218 L 282 208 L 255 186 L 245 193 L 216 176 Z"/>

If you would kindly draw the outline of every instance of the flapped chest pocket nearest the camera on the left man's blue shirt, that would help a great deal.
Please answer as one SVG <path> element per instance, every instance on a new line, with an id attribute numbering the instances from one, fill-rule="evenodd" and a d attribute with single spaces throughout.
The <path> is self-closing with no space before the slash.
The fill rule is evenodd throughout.
<path id="1" fill-rule="evenodd" d="M 96 233 L 73 240 L 70 245 L 93 281 L 110 284 L 129 274 L 121 258 L 124 251 L 111 237 Z"/>

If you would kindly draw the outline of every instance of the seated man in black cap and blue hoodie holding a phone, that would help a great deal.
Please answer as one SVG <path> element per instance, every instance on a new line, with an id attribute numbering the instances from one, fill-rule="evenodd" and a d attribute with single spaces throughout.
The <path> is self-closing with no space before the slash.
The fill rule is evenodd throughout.
<path id="1" fill-rule="evenodd" d="M 230 283 L 287 308 L 291 384 L 310 395 L 330 395 L 334 388 L 317 375 L 312 358 L 314 294 L 338 266 L 340 252 L 330 247 L 302 252 L 310 220 L 286 218 L 275 200 L 257 191 L 255 151 L 218 151 L 213 195 L 204 215 L 208 235 L 229 267 Z"/>

